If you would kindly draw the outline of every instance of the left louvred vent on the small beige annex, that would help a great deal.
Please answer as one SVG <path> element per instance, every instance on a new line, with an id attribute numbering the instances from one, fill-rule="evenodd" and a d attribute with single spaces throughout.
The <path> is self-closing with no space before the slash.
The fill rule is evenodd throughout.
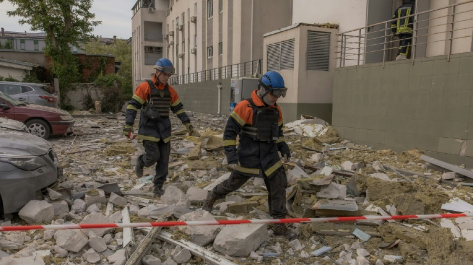
<path id="1" fill-rule="evenodd" d="M 267 46 L 268 71 L 294 69 L 294 39 Z"/>

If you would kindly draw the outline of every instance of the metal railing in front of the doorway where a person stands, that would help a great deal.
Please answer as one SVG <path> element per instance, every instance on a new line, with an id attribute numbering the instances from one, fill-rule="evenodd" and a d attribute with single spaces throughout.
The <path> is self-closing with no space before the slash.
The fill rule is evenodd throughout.
<path id="1" fill-rule="evenodd" d="M 454 53 L 472 51 L 473 0 L 416 12 L 398 19 L 408 17 L 414 19 L 410 53 L 412 64 L 416 53 L 418 58 L 448 55 L 447 60 L 450 61 L 454 46 L 458 48 Z M 386 61 L 392 60 L 393 51 L 399 49 L 396 33 L 391 32 L 391 23 L 398 19 L 337 34 L 338 66 L 382 62 L 384 67 Z"/>

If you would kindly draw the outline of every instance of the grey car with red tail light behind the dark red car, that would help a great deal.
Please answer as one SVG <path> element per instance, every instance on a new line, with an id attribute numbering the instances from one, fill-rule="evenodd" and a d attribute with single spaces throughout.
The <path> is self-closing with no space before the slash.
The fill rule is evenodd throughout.
<path id="1" fill-rule="evenodd" d="M 44 84 L 0 81 L 0 91 L 10 97 L 30 104 L 58 107 L 58 96 L 51 94 Z"/>

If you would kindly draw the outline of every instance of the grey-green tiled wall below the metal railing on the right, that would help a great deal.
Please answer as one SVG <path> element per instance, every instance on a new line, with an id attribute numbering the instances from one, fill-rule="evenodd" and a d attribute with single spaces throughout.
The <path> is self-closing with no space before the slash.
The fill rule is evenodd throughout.
<path id="1" fill-rule="evenodd" d="M 333 125 L 341 137 L 473 167 L 473 53 L 335 71 Z"/>

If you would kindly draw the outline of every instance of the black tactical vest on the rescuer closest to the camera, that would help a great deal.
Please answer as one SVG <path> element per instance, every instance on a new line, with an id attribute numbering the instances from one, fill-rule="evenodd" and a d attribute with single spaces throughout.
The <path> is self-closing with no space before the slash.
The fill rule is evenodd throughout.
<path id="1" fill-rule="evenodd" d="M 245 124 L 241 128 L 241 135 L 256 141 L 276 141 L 278 139 L 279 111 L 277 108 L 256 106 L 251 98 L 248 106 L 253 109 L 253 124 Z"/>

